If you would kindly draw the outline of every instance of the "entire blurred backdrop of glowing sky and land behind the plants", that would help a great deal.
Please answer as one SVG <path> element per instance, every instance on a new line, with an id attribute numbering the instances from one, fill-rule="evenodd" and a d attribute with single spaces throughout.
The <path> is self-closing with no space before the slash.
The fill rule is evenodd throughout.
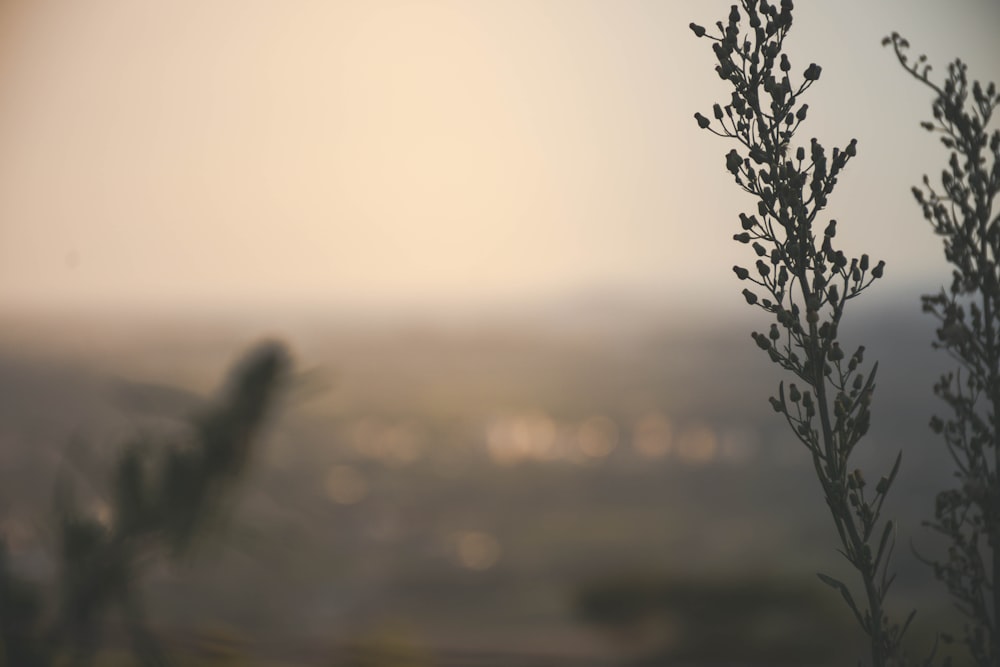
<path id="1" fill-rule="evenodd" d="M 889 267 L 840 338 L 879 362 L 869 488 L 903 451 L 891 611 L 923 657 L 954 619 L 916 555 L 951 468 L 917 295 L 951 269 L 908 193 L 944 155 L 880 41 L 995 79 L 1000 3 L 799 4 L 799 136 L 858 140 L 828 212 Z M 275 339 L 296 374 L 245 479 L 142 568 L 180 667 L 854 664 L 816 577 L 852 572 L 728 268 L 746 193 L 692 118 L 730 91 L 689 24 L 730 5 L 0 2 L 13 569 L 51 603 L 57 489 L 106 522 L 126 445 L 190 445 Z M 101 667 L 133 664 L 110 621 Z"/>

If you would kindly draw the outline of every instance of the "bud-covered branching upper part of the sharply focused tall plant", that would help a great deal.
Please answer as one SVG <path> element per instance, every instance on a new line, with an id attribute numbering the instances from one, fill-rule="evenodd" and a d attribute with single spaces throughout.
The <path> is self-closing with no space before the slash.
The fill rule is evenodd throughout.
<path id="1" fill-rule="evenodd" d="M 733 86 L 728 103 L 713 105 L 714 121 L 700 113 L 695 118 L 701 128 L 740 144 L 742 150 L 726 155 L 726 168 L 758 200 L 756 213 L 740 214 L 741 231 L 733 236 L 757 259 L 733 272 L 751 283 L 743 289 L 746 302 L 773 314 L 786 335 L 755 333 L 754 341 L 807 383 L 829 380 L 843 388 L 859 372 L 855 358 L 841 363 L 845 353 L 837 330 L 845 304 L 881 278 L 885 264 L 868 255 L 849 259 L 835 246 L 835 220 L 821 236 L 813 231 L 838 177 L 857 154 L 857 142 L 828 152 L 812 139 L 808 150 L 799 146 L 794 155 L 788 150 L 807 117 L 808 105 L 800 98 L 822 72 L 811 64 L 793 82 L 792 63 L 783 52 L 791 11 L 791 2 L 744 0 L 742 11 L 734 5 L 728 22 L 716 24 L 715 35 L 691 25 L 696 36 L 713 42 L 716 72 Z"/>

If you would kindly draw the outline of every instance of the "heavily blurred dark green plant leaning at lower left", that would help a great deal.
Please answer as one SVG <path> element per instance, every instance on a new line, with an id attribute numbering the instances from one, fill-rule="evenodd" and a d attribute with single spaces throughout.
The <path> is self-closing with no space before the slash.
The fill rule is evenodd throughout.
<path id="1" fill-rule="evenodd" d="M 157 556 L 192 544 L 244 469 L 255 436 L 287 376 L 285 348 L 262 345 L 235 369 L 225 400 L 193 422 L 191 443 L 154 452 L 141 442 L 117 461 L 107 523 L 81 513 L 72 494 L 57 495 L 57 608 L 41 624 L 41 596 L 19 580 L 0 542 L 0 656 L 11 667 L 88 665 L 100 646 L 107 612 L 122 612 L 133 652 L 143 665 L 168 664 L 148 629 L 140 577 Z"/>

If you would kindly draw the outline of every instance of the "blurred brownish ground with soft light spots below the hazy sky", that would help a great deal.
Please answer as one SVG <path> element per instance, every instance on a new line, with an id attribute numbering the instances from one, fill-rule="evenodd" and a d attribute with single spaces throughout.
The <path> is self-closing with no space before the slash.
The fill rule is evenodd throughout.
<path id="1" fill-rule="evenodd" d="M 926 427 L 945 360 L 916 310 L 843 336 L 880 360 L 858 465 L 877 480 L 904 451 L 895 601 L 900 615 L 921 606 L 919 637 L 947 605 L 911 545 L 940 546 L 919 522 L 949 473 Z M 11 318 L 0 532 L 19 571 L 51 581 L 57 475 L 106 512 L 117 448 L 183 438 L 227 365 L 278 335 L 299 374 L 238 497 L 148 582 L 177 650 L 289 665 L 847 659 L 855 630 L 815 572 L 850 573 L 806 453 L 768 407 L 778 375 L 748 322 L 695 327 L 655 308 L 447 324 Z"/>

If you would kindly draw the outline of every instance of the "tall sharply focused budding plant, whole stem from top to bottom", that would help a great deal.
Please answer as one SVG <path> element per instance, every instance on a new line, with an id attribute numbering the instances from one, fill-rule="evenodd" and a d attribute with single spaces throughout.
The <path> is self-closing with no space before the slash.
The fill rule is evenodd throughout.
<path id="1" fill-rule="evenodd" d="M 813 63 L 793 83 L 783 52 L 792 8 L 790 0 L 780 5 L 742 0 L 725 24 L 716 23 L 717 36 L 691 24 L 697 37 L 713 42 L 716 73 L 733 88 L 727 104 L 714 105 L 714 121 L 700 113 L 695 119 L 702 129 L 739 144 L 726 155 L 726 169 L 757 199 L 757 210 L 740 214 L 742 231 L 733 238 L 750 245 L 758 259 L 752 270 L 735 266 L 733 271 L 753 285 L 743 290 L 747 303 L 775 320 L 767 333 L 754 332 L 753 340 L 803 385 L 786 389 L 782 382 L 771 405 L 812 457 L 839 551 L 860 576 L 862 602 L 845 583 L 819 577 L 843 596 L 869 637 L 872 663 L 881 667 L 898 661 L 900 639 L 913 616 L 899 626 L 885 613 L 895 536 L 893 522 L 883 521 L 881 512 L 900 456 L 874 492 L 861 471 L 852 470 L 850 456 L 869 427 L 878 364 L 866 372 L 864 347 L 847 355 L 838 330 L 847 303 L 882 277 L 884 263 L 873 266 L 868 255 L 849 259 L 836 249 L 835 220 L 818 232 L 817 217 L 857 142 L 829 155 L 816 139 L 808 148 L 795 142 L 809 108 L 801 98 L 822 70 Z"/>

